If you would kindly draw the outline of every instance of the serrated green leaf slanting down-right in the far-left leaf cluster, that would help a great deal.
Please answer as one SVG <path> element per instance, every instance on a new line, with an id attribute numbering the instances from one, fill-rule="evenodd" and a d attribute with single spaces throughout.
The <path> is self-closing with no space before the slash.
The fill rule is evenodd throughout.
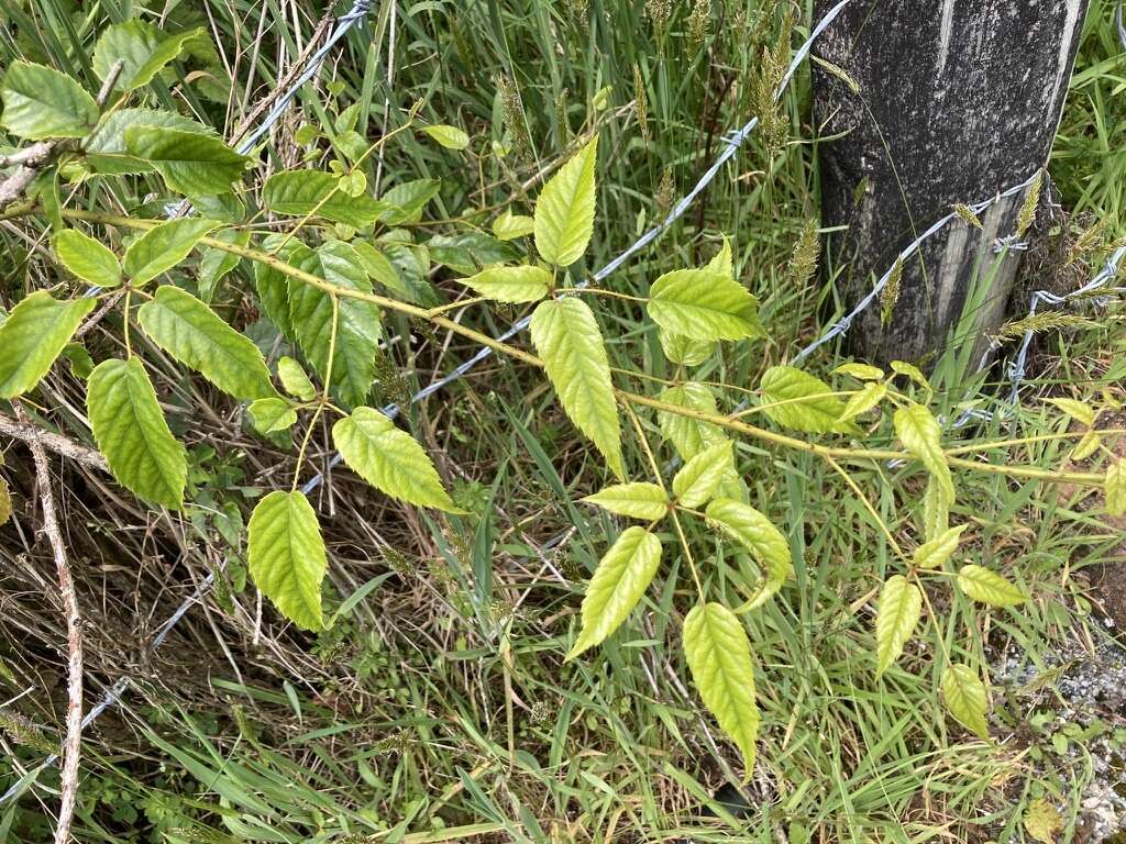
<path id="1" fill-rule="evenodd" d="M 187 290 L 164 285 L 137 311 L 145 334 L 235 398 L 277 396 L 262 353 Z"/>

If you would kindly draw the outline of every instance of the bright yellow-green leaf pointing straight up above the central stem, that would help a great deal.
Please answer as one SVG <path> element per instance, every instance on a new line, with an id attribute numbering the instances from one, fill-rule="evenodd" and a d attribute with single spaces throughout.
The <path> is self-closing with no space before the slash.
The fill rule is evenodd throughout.
<path id="1" fill-rule="evenodd" d="M 555 173 L 536 200 L 534 231 L 539 257 L 556 267 L 582 258 L 595 233 L 595 165 L 598 136 Z"/>

